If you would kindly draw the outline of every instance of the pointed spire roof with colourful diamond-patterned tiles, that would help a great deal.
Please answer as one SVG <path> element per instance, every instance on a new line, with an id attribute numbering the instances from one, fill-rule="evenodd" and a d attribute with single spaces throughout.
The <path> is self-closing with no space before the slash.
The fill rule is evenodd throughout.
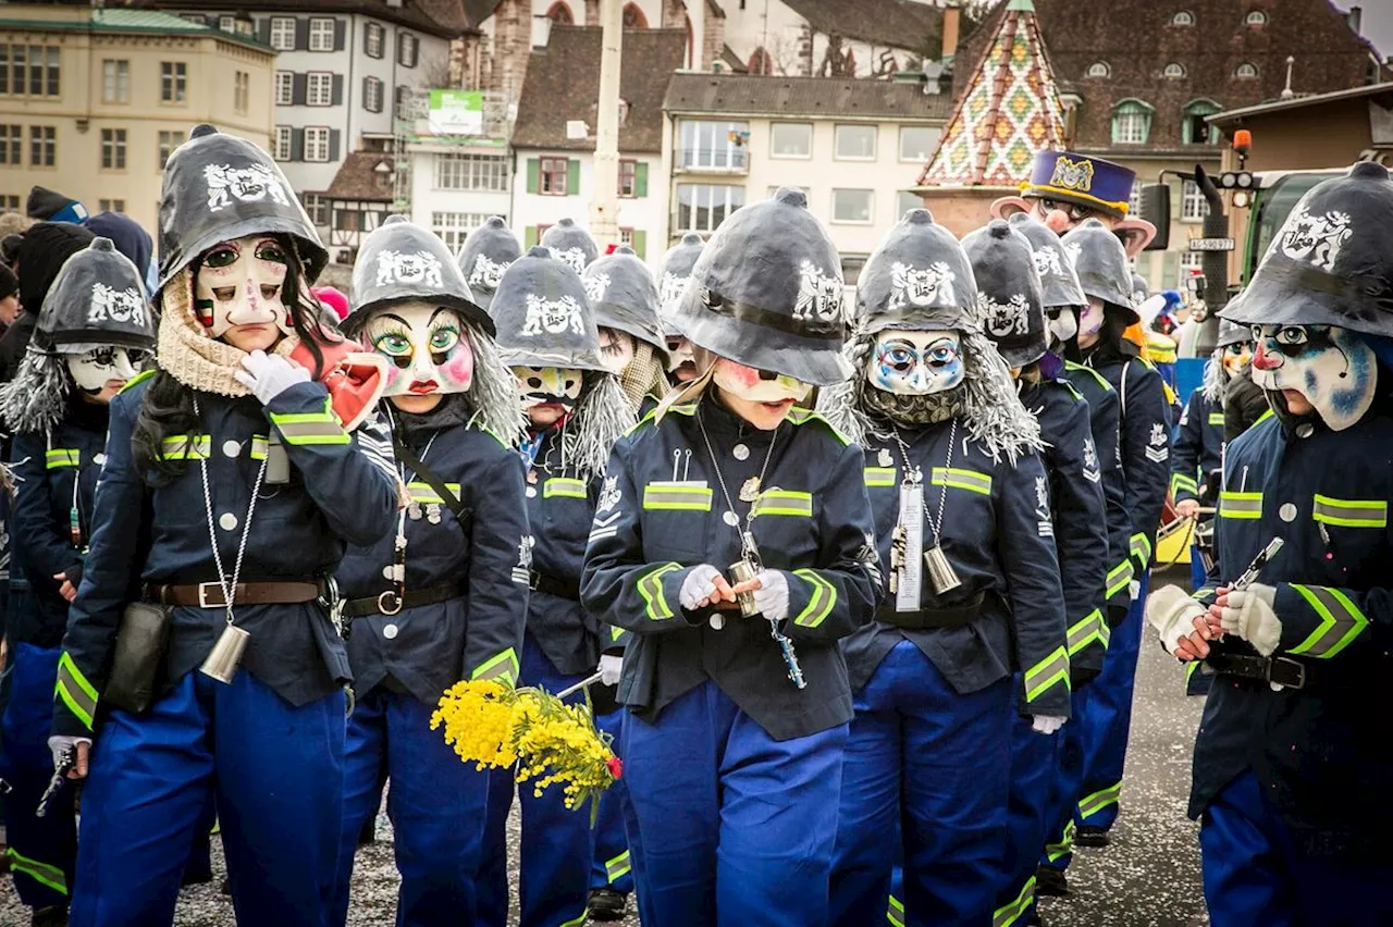
<path id="1" fill-rule="evenodd" d="M 1035 152 L 1064 146 L 1064 117 L 1031 0 L 1010 0 L 970 74 L 939 148 L 919 177 L 931 187 L 1015 187 Z"/>

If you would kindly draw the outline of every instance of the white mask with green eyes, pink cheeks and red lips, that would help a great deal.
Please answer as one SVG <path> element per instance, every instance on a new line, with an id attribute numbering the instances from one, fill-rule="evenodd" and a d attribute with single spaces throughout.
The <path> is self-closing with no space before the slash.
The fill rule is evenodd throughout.
<path id="1" fill-rule="evenodd" d="M 474 351 L 454 309 L 401 303 L 375 313 L 364 337 L 387 359 L 383 395 L 465 393 L 474 381 Z"/>

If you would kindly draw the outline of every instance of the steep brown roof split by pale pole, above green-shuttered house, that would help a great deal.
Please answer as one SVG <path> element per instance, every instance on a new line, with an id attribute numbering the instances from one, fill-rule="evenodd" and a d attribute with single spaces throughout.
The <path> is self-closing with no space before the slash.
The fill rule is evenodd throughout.
<path id="1" fill-rule="evenodd" d="M 687 56 L 683 29 L 625 29 L 620 97 L 628 116 L 618 127 L 618 150 L 663 149 L 663 93 Z M 514 148 L 593 150 L 600 89 L 600 29 L 553 25 L 545 49 L 534 49 L 522 81 Z M 566 122 L 584 120 L 589 139 L 566 136 Z"/>

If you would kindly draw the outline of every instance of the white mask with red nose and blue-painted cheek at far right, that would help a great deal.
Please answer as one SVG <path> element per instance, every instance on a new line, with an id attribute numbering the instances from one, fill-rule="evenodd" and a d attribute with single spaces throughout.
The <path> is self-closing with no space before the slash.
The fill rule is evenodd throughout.
<path id="1" fill-rule="evenodd" d="M 1252 381 L 1263 390 L 1293 390 L 1343 431 L 1369 411 L 1378 388 L 1373 348 L 1348 328 L 1254 326 Z"/>

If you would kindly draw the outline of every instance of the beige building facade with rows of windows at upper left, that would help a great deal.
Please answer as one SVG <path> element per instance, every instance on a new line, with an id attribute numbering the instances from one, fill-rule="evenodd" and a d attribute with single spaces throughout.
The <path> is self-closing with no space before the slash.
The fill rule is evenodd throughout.
<path id="1" fill-rule="evenodd" d="M 33 185 L 152 234 L 169 153 L 198 122 L 272 143 L 276 53 L 141 10 L 0 6 L 0 212 Z"/>

